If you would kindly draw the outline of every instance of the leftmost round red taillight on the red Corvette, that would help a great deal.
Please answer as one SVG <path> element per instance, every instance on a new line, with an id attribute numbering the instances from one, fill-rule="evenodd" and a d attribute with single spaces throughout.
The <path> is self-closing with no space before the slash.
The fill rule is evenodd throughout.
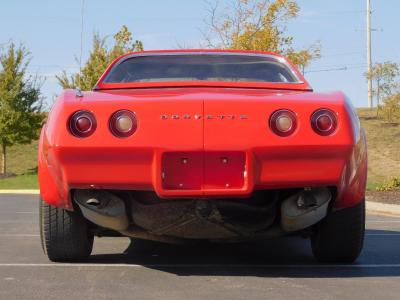
<path id="1" fill-rule="evenodd" d="M 76 137 L 88 137 L 93 134 L 96 127 L 96 118 L 90 111 L 80 110 L 69 118 L 69 130 Z"/>

